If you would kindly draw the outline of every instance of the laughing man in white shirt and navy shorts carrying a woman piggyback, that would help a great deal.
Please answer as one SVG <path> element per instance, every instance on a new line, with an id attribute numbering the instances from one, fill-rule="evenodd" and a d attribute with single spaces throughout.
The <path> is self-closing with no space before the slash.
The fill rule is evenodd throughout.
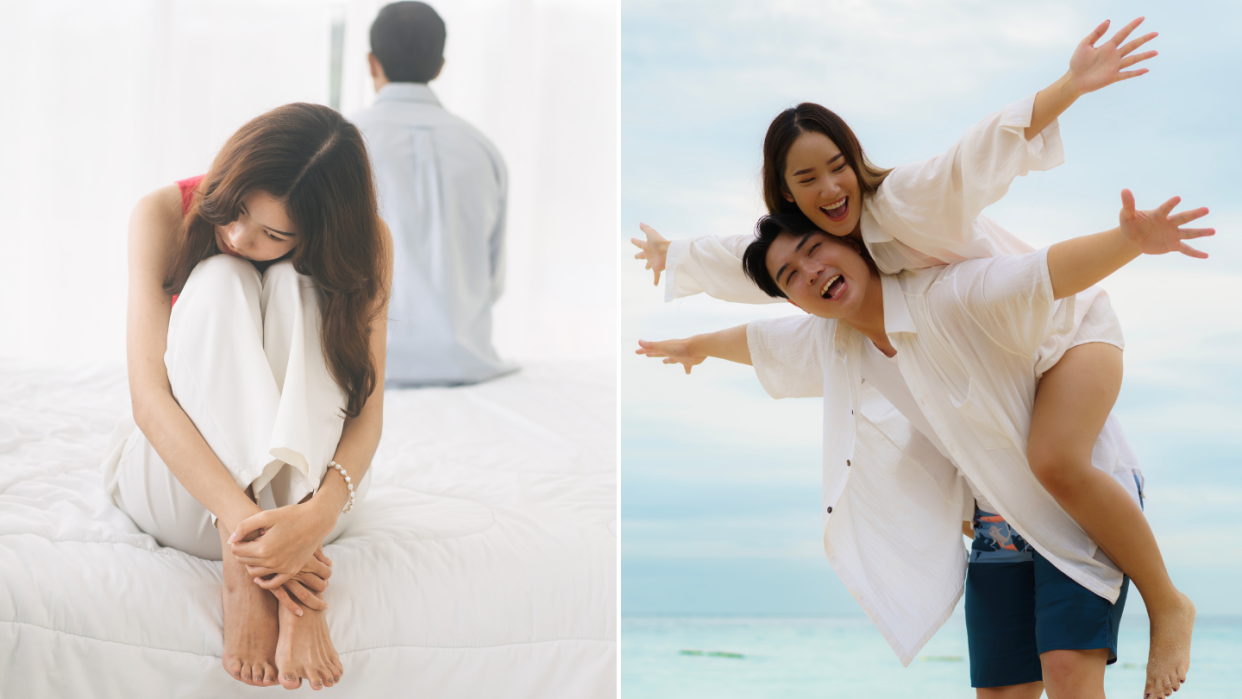
<path id="1" fill-rule="evenodd" d="M 1083 322 L 1074 304 L 1093 303 L 1092 284 L 1143 253 L 1201 256 L 1182 241 L 1213 232 L 1180 228 L 1206 209 L 1170 216 L 1176 199 L 1153 211 L 1135 211 L 1128 190 L 1122 199 L 1117 228 L 898 274 L 800 212 L 766 216 L 745 272 L 809 315 L 640 341 L 638 354 L 687 372 L 715 356 L 753 365 L 773 397 L 823 397 L 825 550 L 903 662 L 956 605 L 968 564 L 959 523 L 972 519 L 972 684 L 1103 697 L 1128 581 L 1031 472 L 1036 350 Z M 887 402 L 868 397 L 877 392 Z M 1141 503 L 1141 472 L 1113 417 L 1095 457 Z"/>

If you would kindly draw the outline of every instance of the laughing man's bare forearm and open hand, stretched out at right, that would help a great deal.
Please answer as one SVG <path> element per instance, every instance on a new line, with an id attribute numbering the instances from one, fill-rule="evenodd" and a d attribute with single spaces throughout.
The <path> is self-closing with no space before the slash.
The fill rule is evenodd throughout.
<path id="1" fill-rule="evenodd" d="M 1213 228 L 1182 228 L 1180 226 L 1207 215 L 1207 207 L 1192 209 L 1170 216 L 1181 201 L 1175 196 L 1151 211 L 1135 211 L 1134 195 L 1122 190 L 1120 226 L 1058 242 L 1048 248 L 1048 276 L 1053 298 L 1073 295 L 1129 264 L 1140 255 L 1180 252 L 1206 259 L 1207 255 L 1185 241 L 1215 235 Z"/>

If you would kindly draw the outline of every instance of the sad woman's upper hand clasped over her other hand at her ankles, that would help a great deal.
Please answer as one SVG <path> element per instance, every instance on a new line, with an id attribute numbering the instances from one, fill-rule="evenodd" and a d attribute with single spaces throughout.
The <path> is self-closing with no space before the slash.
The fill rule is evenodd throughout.
<path id="1" fill-rule="evenodd" d="M 238 521 L 229 546 L 251 576 L 273 576 L 270 582 L 274 589 L 306 567 L 334 525 L 308 500 Z"/>

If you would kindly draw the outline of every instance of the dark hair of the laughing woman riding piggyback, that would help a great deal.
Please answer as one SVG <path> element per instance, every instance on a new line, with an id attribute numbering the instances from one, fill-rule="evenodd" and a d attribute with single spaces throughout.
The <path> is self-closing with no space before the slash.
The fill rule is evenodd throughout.
<path id="1" fill-rule="evenodd" d="M 818 104 L 804 102 L 777 114 L 768 127 L 768 135 L 764 137 L 764 204 L 768 205 L 769 214 L 799 210 L 797 204 L 785 199 L 789 194 L 789 187 L 785 185 L 785 161 L 790 147 L 797 137 L 807 132 L 821 133 L 837 144 L 846 156 L 846 164 L 858 176 L 858 190 L 863 199 L 874 194 L 892 171 L 877 168 L 867 160 L 867 154 L 858 144 L 858 137 L 845 119 Z"/>

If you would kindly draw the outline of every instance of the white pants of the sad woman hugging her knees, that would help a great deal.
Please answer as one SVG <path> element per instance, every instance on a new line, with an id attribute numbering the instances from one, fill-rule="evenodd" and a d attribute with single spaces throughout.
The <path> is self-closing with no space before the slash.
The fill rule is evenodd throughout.
<path id="1" fill-rule="evenodd" d="M 262 274 L 216 255 L 173 307 L 164 354 L 173 397 L 241 489 L 263 509 L 313 493 L 337 451 L 345 394 L 319 339 L 314 282 L 289 261 Z M 127 416 L 103 461 L 104 488 L 160 545 L 220 560 L 215 518 L 178 482 Z M 370 479 L 359 483 L 355 508 Z M 337 520 L 335 538 L 348 515 Z"/>

